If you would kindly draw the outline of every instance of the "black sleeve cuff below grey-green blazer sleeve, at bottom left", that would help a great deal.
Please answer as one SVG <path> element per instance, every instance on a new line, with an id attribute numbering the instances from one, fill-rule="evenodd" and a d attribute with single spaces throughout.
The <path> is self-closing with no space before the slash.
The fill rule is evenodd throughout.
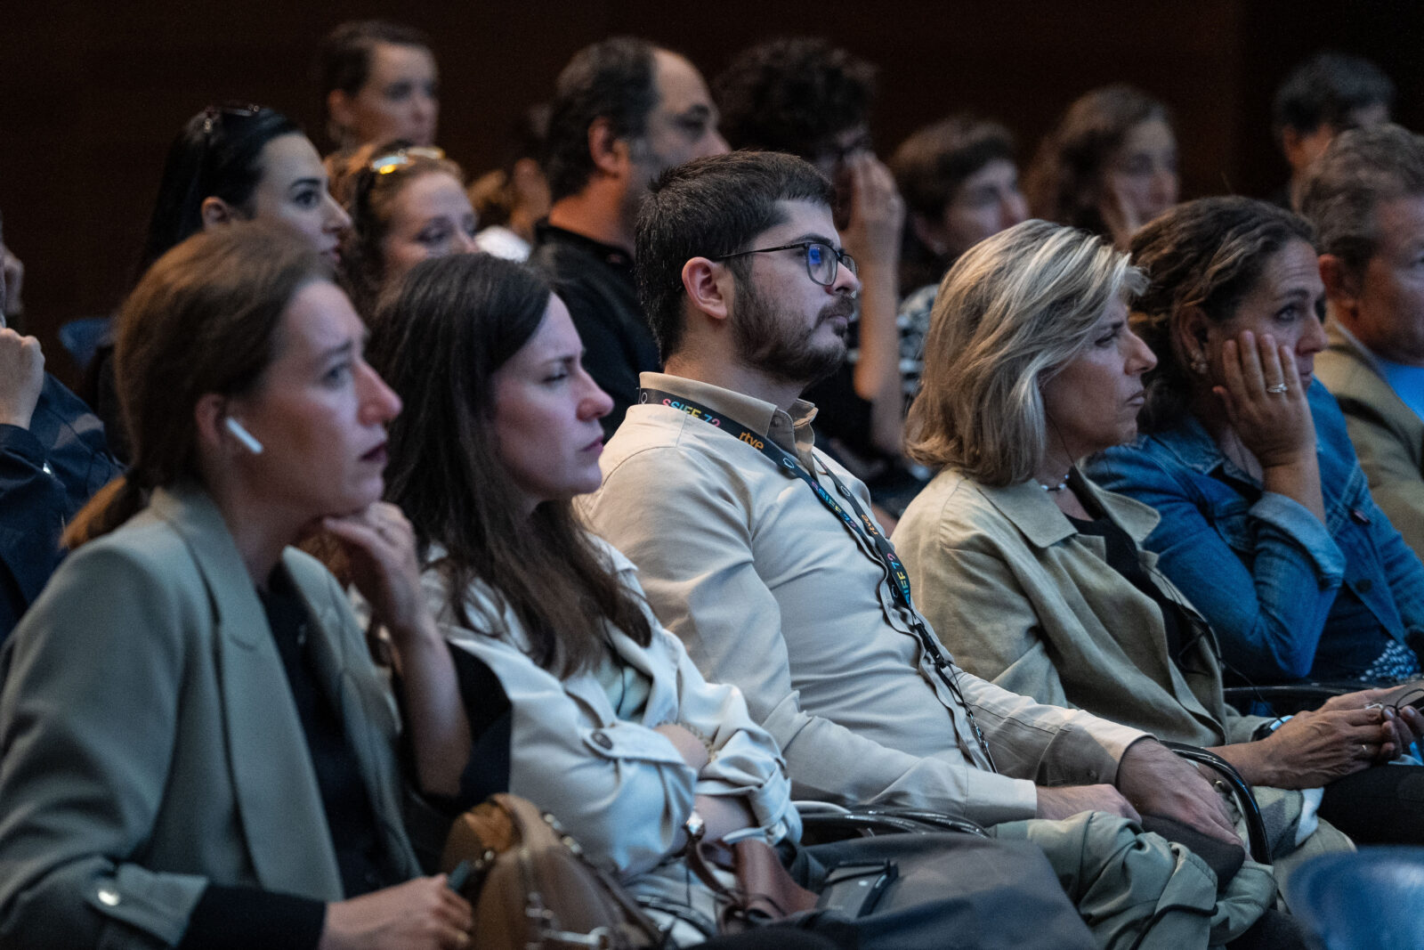
<path id="1" fill-rule="evenodd" d="M 319 900 L 208 884 L 178 950 L 313 950 L 325 924 L 326 904 Z"/>

